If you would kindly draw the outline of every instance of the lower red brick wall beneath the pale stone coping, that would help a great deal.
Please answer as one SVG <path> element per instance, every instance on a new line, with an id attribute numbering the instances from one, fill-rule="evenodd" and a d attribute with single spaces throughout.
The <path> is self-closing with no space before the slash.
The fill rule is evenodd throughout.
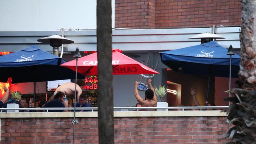
<path id="1" fill-rule="evenodd" d="M 75 142 L 98 143 L 98 118 L 77 118 Z M 2 118 L 1 144 L 72 143 L 72 118 Z M 115 118 L 115 144 L 223 144 L 226 116 Z"/>

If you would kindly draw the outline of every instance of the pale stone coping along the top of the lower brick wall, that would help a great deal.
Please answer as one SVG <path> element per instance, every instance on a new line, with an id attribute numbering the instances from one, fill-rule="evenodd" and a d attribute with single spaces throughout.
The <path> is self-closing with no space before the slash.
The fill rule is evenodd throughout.
<path id="1" fill-rule="evenodd" d="M 227 116 L 221 111 L 114 111 L 114 117 Z M 74 112 L 0 113 L 0 118 L 71 118 Z M 76 117 L 98 117 L 98 112 L 76 112 Z"/>

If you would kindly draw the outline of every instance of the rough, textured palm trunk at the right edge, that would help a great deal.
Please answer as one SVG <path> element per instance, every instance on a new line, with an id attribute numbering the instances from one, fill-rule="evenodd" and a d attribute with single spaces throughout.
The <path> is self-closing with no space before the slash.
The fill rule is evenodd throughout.
<path id="1" fill-rule="evenodd" d="M 240 34 L 241 62 L 239 79 L 243 83 L 243 89 L 256 89 L 256 1 L 241 0 L 242 26 Z"/>

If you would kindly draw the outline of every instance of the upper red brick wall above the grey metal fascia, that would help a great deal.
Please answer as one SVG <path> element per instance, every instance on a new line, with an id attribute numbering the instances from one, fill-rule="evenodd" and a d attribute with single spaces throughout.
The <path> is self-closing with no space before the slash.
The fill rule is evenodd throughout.
<path id="1" fill-rule="evenodd" d="M 115 28 L 241 25 L 239 0 L 115 0 Z"/>

